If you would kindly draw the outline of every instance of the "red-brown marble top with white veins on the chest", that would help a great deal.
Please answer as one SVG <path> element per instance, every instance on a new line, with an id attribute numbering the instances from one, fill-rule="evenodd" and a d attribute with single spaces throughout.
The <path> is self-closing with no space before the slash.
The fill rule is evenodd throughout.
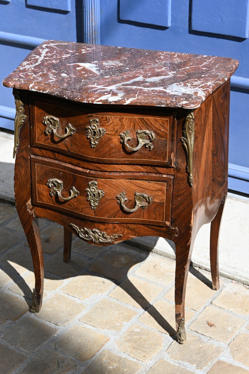
<path id="1" fill-rule="evenodd" d="M 237 69 L 237 60 L 49 40 L 3 85 L 91 104 L 197 108 Z"/>

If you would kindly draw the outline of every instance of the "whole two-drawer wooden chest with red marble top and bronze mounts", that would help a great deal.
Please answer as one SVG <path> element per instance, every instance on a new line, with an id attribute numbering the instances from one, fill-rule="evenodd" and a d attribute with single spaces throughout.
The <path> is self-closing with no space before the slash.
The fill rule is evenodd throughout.
<path id="1" fill-rule="evenodd" d="M 44 42 L 3 82 L 13 87 L 15 200 L 35 272 L 31 312 L 43 297 L 37 218 L 94 245 L 162 236 L 176 247 L 177 340 L 199 228 L 218 233 L 227 195 L 230 58 Z"/>

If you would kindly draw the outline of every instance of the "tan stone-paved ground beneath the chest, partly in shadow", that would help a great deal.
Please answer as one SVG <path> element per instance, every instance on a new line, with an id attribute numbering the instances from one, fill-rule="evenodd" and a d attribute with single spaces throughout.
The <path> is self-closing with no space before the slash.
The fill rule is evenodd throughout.
<path id="1" fill-rule="evenodd" d="M 249 374 L 249 289 L 190 268 L 187 344 L 174 340 L 173 260 L 127 243 L 96 247 L 39 220 L 44 301 L 14 206 L 0 203 L 0 374 Z"/>

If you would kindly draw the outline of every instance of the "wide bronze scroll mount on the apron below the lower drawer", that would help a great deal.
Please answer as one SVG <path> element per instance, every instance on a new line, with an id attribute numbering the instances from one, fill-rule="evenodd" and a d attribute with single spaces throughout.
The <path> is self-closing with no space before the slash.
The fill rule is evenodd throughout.
<path id="1" fill-rule="evenodd" d="M 84 227 L 84 229 L 79 229 L 79 227 L 73 223 L 71 223 L 69 226 L 71 226 L 77 232 L 81 239 L 91 241 L 93 244 L 112 243 L 114 239 L 122 236 L 122 234 L 113 234 L 109 236 L 104 231 L 99 231 L 98 229 L 90 230 L 86 227 Z"/>

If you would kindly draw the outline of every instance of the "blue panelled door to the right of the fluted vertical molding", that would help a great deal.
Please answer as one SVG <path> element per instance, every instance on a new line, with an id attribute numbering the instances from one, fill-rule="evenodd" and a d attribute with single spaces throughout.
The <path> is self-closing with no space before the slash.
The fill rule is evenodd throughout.
<path id="1" fill-rule="evenodd" d="M 238 59 L 231 79 L 229 188 L 249 193 L 249 0 L 100 0 L 103 45 Z"/>

